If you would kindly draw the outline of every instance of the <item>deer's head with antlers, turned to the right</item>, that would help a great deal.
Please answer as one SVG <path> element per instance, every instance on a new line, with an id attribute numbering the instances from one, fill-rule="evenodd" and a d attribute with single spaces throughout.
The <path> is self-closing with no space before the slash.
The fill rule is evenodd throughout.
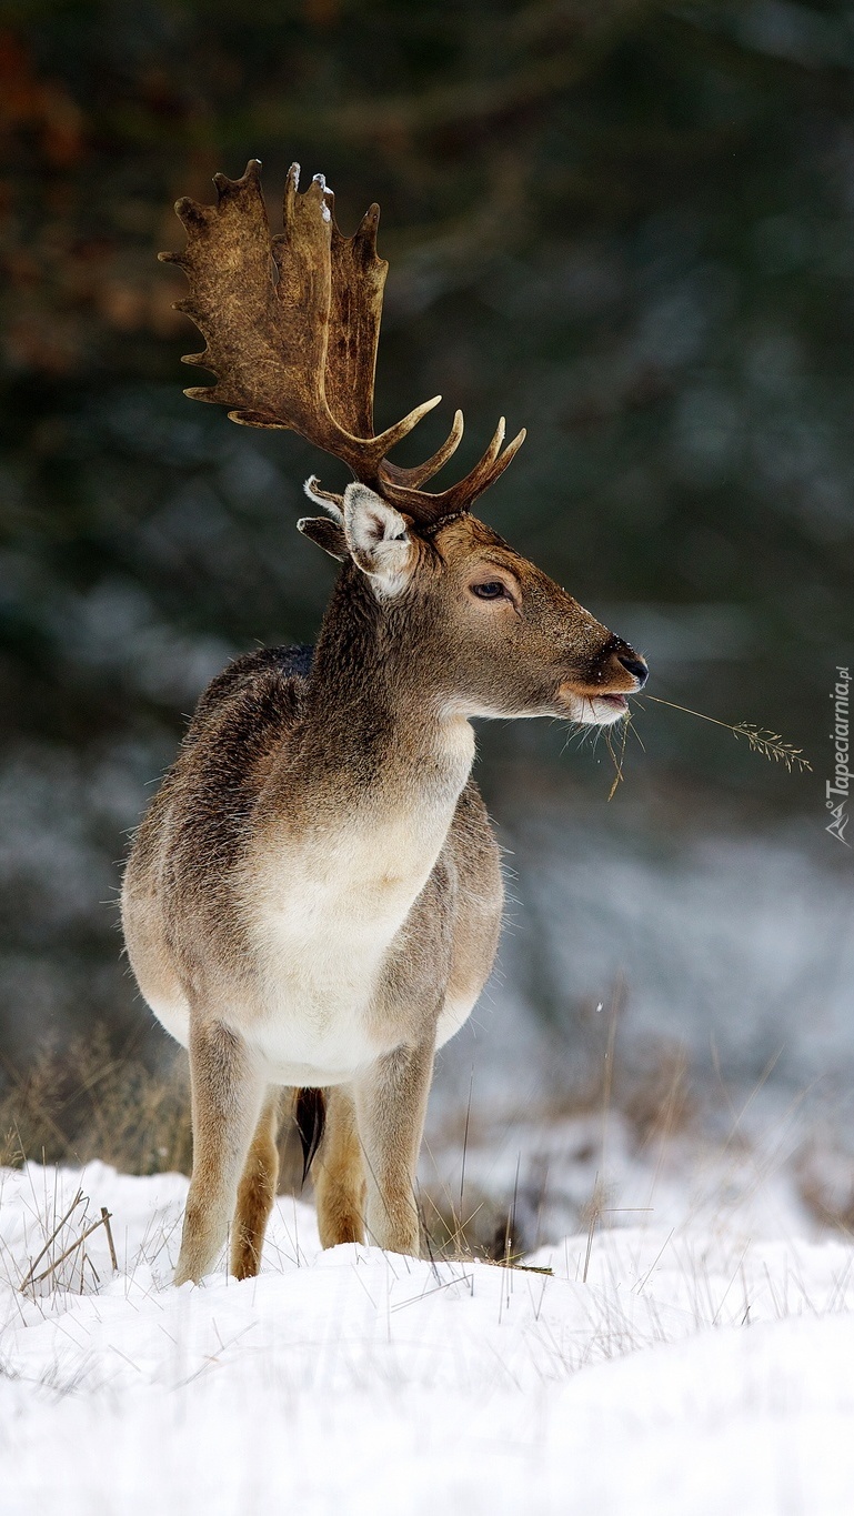
<path id="1" fill-rule="evenodd" d="M 455 452 L 451 434 L 423 464 L 400 468 L 388 453 L 438 405 L 428 400 L 385 432 L 373 432 L 373 374 L 388 265 L 376 256 L 379 208 L 352 238 L 341 236 L 334 196 L 317 174 L 299 193 L 288 173 L 284 230 L 270 236 L 259 164 L 243 179 L 214 179 L 215 206 L 176 205 L 187 233 L 181 264 L 190 297 L 176 303 L 206 347 L 184 362 L 209 368 L 211 387 L 185 391 L 229 406 L 243 426 L 299 432 L 346 462 L 355 482 L 331 494 L 309 479 L 306 493 L 328 515 L 299 529 L 346 564 L 344 588 L 370 587 L 376 615 L 397 632 L 408 667 L 417 667 L 447 709 L 482 716 L 561 716 L 608 725 L 625 696 L 646 679 L 646 664 L 540 568 L 472 514 L 504 473 L 525 432 L 504 446 L 504 418 L 464 479 L 422 488 Z M 394 635 L 387 638 L 394 646 Z M 429 678 L 426 675 L 429 670 Z"/>

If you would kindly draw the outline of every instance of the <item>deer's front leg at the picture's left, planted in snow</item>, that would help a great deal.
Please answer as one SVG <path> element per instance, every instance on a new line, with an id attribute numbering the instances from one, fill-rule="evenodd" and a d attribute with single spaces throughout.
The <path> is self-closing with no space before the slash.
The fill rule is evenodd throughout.
<path id="1" fill-rule="evenodd" d="M 193 1178 L 174 1283 L 209 1273 L 235 1211 L 237 1189 L 261 1114 L 264 1079 L 246 1043 L 221 1022 L 190 1034 Z"/>

